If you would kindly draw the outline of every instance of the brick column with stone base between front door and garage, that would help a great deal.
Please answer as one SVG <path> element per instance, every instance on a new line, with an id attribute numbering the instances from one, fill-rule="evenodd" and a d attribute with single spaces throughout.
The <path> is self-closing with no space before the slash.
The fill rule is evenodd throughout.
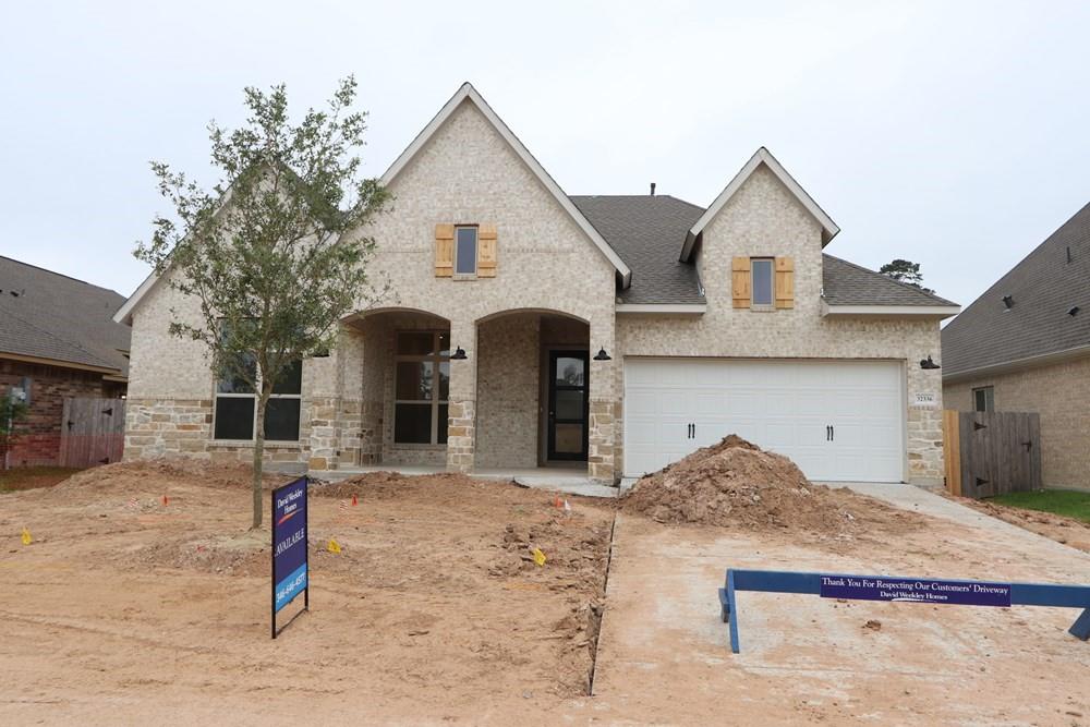
<path id="1" fill-rule="evenodd" d="M 590 422 L 588 422 L 586 474 L 592 480 L 613 484 L 614 468 L 614 423 L 617 409 L 615 396 L 617 369 L 620 361 L 614 339 L 613 320 L 591 322 L 591 401 Z M 594 361 L 598 349 L 605 348 L 614 356 L 611 361 Z"/>

